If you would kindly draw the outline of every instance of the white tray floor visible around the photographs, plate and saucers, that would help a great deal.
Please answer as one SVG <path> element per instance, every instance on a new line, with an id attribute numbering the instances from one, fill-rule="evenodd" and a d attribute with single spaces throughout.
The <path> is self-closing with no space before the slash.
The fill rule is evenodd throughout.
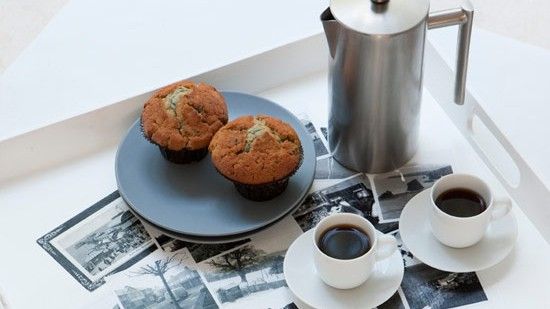
<path id="1" fill-rule="evenodd" d="M 319 72 L 259 95 L 296 114 L 307 114 L 314 123 L 322 125 L 327 113 L 326 78 L 326 72 Z M 496 195 L 504 194 L 428 92 L 423 95 L 421 119 L 419 151 L 413 163 L 450 163 L 455 172 L 477 174 L 490 183 Z M 106 285 L 93 293 L 82 288 L 36 244 L 36 239 L 116 189 L 115 152 L 116 145 L 105 147 L 8 183 L 0 190 L 0 243 L 2 253 L 5 252 L 0 263 L 0 286 L 12 308 L 37 308 L 45 300 L 48 308 L 75 308 L 112 295 Z M 322 186 L 317 183 L 313 190 Z M 550 299 L 544 297 L 550 288 L 550 246 L 517 206 L 513 211 L 519 229 L 516 247 L 502 263 L 478 272 L 489 301 L 470 307 L 550 306 Z"/>

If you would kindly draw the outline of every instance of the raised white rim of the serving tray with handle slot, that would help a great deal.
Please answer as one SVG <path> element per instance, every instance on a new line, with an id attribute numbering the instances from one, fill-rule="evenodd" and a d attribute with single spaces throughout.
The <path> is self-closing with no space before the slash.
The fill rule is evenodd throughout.
<path id="1" fill-rule="evenodd" d="M 494 123 L 490 123 L 491 129 L 494 129 L 492 130 L 493 133 L 496 132 L 494 135 L 505 142 L 507 150 L 513 153 L 516 164 L 521 167 L 522 184 L 515 188 L 506 183 L 506 180 L 499 175 L 498 170 L 491 164 L 491 159 L 483 153 L 471 138 L 471 131 L 468 128 L 470 120 L 466 119 L 469 118 L 468 113 L 452 111 L 452 102 L 445 98 L 447 96 L 445 94 L 446 90 L 441 93 L 438 93 L 438 89 L 434 91 L 434 88 L 440 88 L 439 90 L 441 90 L 441 88 L 447 86 L 430 86 L 434 79 L 432 78 L 430 81 L 429 75 L 433 73 L 434 69 L 439 71 L 438 76 L 442 77 L 437 81 L 439 84 L 452 82 L 452 70 L 429 38 L 426 41 L 425 48 L 425 88 L 434 96 L 436 102 L 443 107 L 447 116 L 454 122 L 465 140 L 474 148 L 483 163 L 489 167 L 507 193 L 526 213 L 531 223 L 543 235 L 547 243 L 550 242 L 550 226 L 546 222 L 547 218 L 550 218 L 550 207 L 538 207 L 540 204 L 550 203 L 549 188 L 542 182 L 537 171 L 531 169 L 523 158 L 523 154 L 516 151 Z M 329 57 L 327 51 L 325 36 L 319 31 L 305 38 L 283 42 L 279 47 L 252 54 L 249 58 L 239 59 L 236 62 L 213 68 L 207 72 L 201 72 L 194 76 L 182 76 L 182 79 L 209 80 L 219 85 L 220 89 L 258 93 L 293 78 L 326 70 Z M 289 63 L 288 59 L 290 58 L 300 59 L 301 61 Z M 276 72 L 276 74 L 266 75 L 265 72 L 268 71 Z M 239 78 L 232 78 L 234 76 Z M 451 88 L 449 87 L 449 89 Z M 4 167 L 2 173 L 0 173 L 0 186 L 19 184 L 29 176 L 32 177 L 59 168 L 65 165 L 67 161 L 81 159 L 107 147 L 116 147 L 118 139 L 137 116 L 141 101 L 150 93 L 151 91 L 144 90 L 144 93 L 107 104 L 103 108 L 45 127 L 39 127 L 34 131 L 16 135 L 7 140 L 0 140 L 0 166 Z M 478 116 L 482 115 L 484 119 L 491 120 L 490 115 L 485 113 L 472 94 L 467 95 L 467 100 L 473 103 L 469 106 Z M 113 115 L 117 116 L 113 117 Z M 460 117 L 459 119 L 455 118 L 457 115 Z M 102 120 L 101 125 L 97 125 L 98 119 Z M 115 133 L 113 134 L 113 132 Z M 82 143 L 80 141 L 82 134 L 89 134 L 96 138 L 88 143 Z M 98 137 L 101 139 L 98 139 Z M 55 147 L 51 146 L 52 142 Z M 78 147 L 73 147 L 73 144 L 78 145 Z M 36 156 L 33 156 L 33 153 L 29 152 L 28 149 L 39 152 L 39 160 L 36 160 Z M 535 184 L 535 188 L 530 184 Z"/>

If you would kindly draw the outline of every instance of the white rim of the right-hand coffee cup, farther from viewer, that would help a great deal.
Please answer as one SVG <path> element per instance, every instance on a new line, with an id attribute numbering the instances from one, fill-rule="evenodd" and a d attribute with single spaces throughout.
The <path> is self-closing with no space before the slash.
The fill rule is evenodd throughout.
<path id="1" fill-rule="evenodd" d="M 475 216 L 470 216 L 470 217 L 457 217 L 457 216 L 453 216 L 453 215 L 450 215 L 446 212 L 444 212 L 443 210 L 439 209 L 439 207 L 437 207 L 437 205 L 435 204 L 435 200 L 437 199 L 435 195 L 435 191 L 437 190 L 437 188 L 439 188 L 439 186 L 441 186 L 441 184 L 443 182 L 448 182 L 448 181 L 452 181 L 453 178 L 470 178 L 471 180 L 474 180 L 480 184 L 482 184 L 482 186 L 484 186 L 484 189 L 486 190 L 486 192 L 488 193 L 489 195 L 489 198 L 486 199 L 486 196 L 484 196 L 484 194 L 482 194 L 481 192 L 479 192 L 479 190 L 475 189 L 475 188 L 464 188 L 464 187 L 461 187 L 461 186 L 453 186 L 452 188 L 453 189 L 468 189 L 468 190 L 471 190 L 471 191 L 474 191 L 475 193 L 477 193 L 478 195 L 480 195 L 483 200 L 485 200 L 485 203 L 487 203 L 487 207 L 485 207 L 485 210 L 480 212 L 479 214 L 475 215 Z M 449 189 L 448 189 L 449 190 Z M 443 192 L 439 193 L 439 194 L 442 194 Z M 438 195 L 439 196 L 439 195 Z M 488 200 L 488 201 L 487 201 Z M 483 181 L 481 178 L 477 177 L 477 176 L 474 176 L 474 175 L 470 175 L 470 174 L 449 174 L 449 175 L 445 175 L 443 177 L 441 177 L 440 179 L 438 179 L 434 185 L 432 186 L 432 188 L 430 189 L 430 202 L 432 204 L 432 207 L 435 209 L 435 211 L 444 216 L 444 217 L 448 217 L 448 218 L 451 218 L 451 219 L 454 219 L 454 220 L 459 220 L 459 221 L 468 221 L 468 220 L 471 220 L 471 219 L 474 219 L 474 218 L 479 218 L 481 216 L 484 216 L 486 214 L 486 212 L 488 212 L 490 209 L 493 208 L 493 204 L 494 204 L 494 198 L 493 198 L 493 192 L 491 191 L 491 188 L 489 188 L 489 185 Z"/>

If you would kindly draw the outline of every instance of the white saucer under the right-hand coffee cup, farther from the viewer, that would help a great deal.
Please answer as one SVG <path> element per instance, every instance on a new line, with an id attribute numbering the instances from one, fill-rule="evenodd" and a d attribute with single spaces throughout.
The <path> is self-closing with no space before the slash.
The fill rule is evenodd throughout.
<path id="1" fill-rule="evenodd" d="M 441 244 L 430 230 L 430 189 L 413 197 L 401 212 L 399 233 L 403 244 L 423 263 L 449 272 L 472 272 L 501 262 L 514 248 L 518 226 L 512 211 L 492 221 L 477 244 L 455 249 Z"/>

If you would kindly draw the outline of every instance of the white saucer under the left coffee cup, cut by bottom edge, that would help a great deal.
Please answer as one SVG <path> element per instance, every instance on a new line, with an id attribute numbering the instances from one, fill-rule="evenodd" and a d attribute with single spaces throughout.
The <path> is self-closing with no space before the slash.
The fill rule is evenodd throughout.
<path id="1" fill-rule="evenodd" d="M 298 303 L 314 308 L 373 308 L 388 300 L 403 279 L 403 259 L 399 250 L 380 262 L 369 280 L 350 290 L 326 285 L 313 265 L 313 229 L 302 234 L 288 248 L 284 260 L 286 283 Z"/>

